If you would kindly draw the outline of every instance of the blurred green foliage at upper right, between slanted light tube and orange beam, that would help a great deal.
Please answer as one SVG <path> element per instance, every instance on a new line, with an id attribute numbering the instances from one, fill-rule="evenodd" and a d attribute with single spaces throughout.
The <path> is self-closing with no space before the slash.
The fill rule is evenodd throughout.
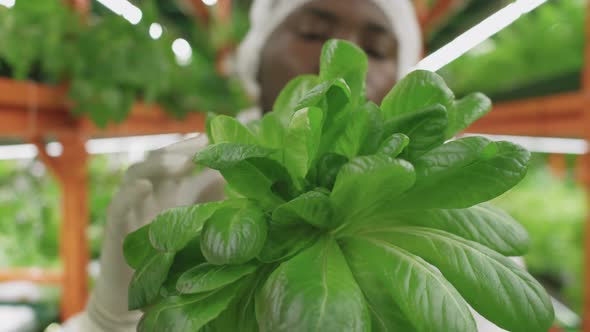
<path id="1" fill-rule="evenodd" d="M 458 95 L 481 91 L 495 99 L 575 88 L 583 64 L 584 9 L 584 0 L 548 1 L 440 74 Z"/>

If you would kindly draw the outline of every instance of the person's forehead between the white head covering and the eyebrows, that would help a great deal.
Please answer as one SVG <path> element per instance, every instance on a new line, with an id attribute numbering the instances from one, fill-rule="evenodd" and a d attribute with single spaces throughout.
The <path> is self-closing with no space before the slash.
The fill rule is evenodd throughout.
<path id="1" fill-rule="evenodd" d="M 312 0 L 296 15 L 310 15 L 334 24 L 354 25 L 377 32 L 391 32 L 391 23 L 371 0 Z"/>

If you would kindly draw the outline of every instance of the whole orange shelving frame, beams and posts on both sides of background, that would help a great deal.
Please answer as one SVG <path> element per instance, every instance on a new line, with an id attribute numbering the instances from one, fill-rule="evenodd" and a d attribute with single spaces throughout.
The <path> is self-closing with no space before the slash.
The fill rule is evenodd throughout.
<path id="1" fill-rule="evenodd" d="M 199 6 L 200 0 L 187 0 Z M 416 0 L 420 1 L 420 0 Z M 86 13 L 89 0 L 68 0 Z M 441 0 L 427 12 L 419 8 L 425 29 L 453 9 L 456 1 Z M 422 2 L 424 5 L 424 3 Z M 423 6 L 424 7 L 424 6 Z M 220 0 L 222 17 L 229 19 L 231 0 Z M 198 8 L 203 15 L 204 8 Z M 527 136 L 580 137 L 590 141 L 590 6 L 587 8 L 585 69 L 579 92 L 531 98 L 494 106 L 494 110 L 475 123 L 470 132 Z M 204 130 L 204 117 L 194 113 L 183 120 L 172 119 L 158 106 L 137 103 L 121 124 L 97 128 L 89 120 L 75 118 L 69 111 L 65 87 L 48 87 L 31 82 L 0 78 L 0 135 L 29 140 L 40 147 L 40 159 L 61 183 L 62 218 L 60 252 L 63 273 L 39 269 L 0 270 L 0 281 L 31 280 L 61 283 L 62 318 L 83 310 L 87 294 L 88 250 L 85 229 L 88 212 L 88 155 L 84 142 L 92 136 L 126 136 L 155 133 L 187 133 Z M 43 139 L 57 137 L 64 146 L 60 157 L 44 153 Z M 590 155 L 583 161 L 584 184 L 590 192 Z M 589 202 L 590 203 L 590 202 Z M 587 222 L 590 225 L 590 217 Z M 590 228 L 586 230 L 585 284 L 590 285 Z M 584 331 L 590 332 L 590 287 L 585 290 Z"/>

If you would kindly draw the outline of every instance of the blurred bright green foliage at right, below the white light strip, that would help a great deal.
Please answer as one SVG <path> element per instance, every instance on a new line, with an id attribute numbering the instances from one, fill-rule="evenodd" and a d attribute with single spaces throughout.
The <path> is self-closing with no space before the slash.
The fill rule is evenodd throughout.
<path id="1" fill-rule="evenodd" d="M 529 232 L 531 248 L 525 256 L 529 271 L 580 313 L 588 211 L 584 189 L 573 173 L 559 178 L 549 170 L 546 156 L 536 155 L 526 178 L 495 203 Z"/>

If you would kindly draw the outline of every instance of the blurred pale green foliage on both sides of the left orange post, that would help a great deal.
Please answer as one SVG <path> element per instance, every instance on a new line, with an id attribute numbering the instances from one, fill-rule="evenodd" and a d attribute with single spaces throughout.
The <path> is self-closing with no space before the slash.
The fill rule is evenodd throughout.
<path id="1" fill-rule="evenodd" d="M 123 165 L 105 156 L 90 161 L 92 258 L 100 254 L 106 211 Z M 37 161 L 0 162 L 0 266 L 59 266 L 60 189 Z"/>

